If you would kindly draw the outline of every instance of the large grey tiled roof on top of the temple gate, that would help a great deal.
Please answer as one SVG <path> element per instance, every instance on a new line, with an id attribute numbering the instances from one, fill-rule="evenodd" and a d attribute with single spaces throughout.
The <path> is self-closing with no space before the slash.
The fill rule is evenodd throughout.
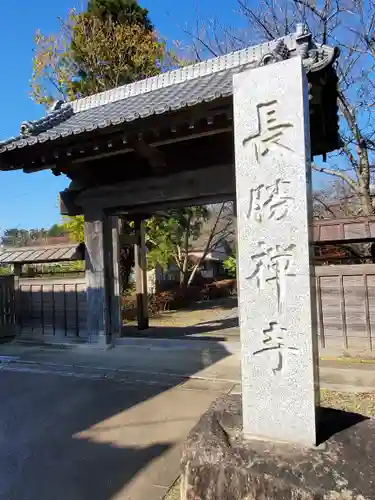
<path id="1" fill-rule="evenodd" d="M 244 67 L 295 55 L 314 71 L 335 58 L 330 47 L 315 47 L 310 35 L 293 34 L 192 66 L 58 106 L 41 120 L 24 122 L 21 134 L 0 142 L 0 154 L 95 129 L 178 110 L 232 94 L 232 76 Z"/>

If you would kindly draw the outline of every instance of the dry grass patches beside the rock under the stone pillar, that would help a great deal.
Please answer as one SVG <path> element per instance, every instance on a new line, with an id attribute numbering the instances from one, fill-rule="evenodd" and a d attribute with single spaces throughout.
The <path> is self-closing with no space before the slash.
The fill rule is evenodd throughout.
<path id="1" fill-rule="evenodd" d="M 320 397 L 322 406 L 375 417 L 375 393 L 336 392 L 322 389 Z M 180 500 L 180 479 L 172 484 L 164 500 Z"/>

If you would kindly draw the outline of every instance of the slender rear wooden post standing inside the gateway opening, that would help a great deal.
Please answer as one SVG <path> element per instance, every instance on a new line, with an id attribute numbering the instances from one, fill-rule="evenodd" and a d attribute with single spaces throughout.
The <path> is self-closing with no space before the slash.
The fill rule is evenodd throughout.
<path id="1" fill-rule="evenodd" d="M 136 219 L 134 221 L 135 239 L 134 260 L 135 279 L 137 294 L 137 321 L 138 329 L 146 330 L 148 323 L 148 294 L 147 294 L 147 256 L 145 243 L 144 221 Z"/>

